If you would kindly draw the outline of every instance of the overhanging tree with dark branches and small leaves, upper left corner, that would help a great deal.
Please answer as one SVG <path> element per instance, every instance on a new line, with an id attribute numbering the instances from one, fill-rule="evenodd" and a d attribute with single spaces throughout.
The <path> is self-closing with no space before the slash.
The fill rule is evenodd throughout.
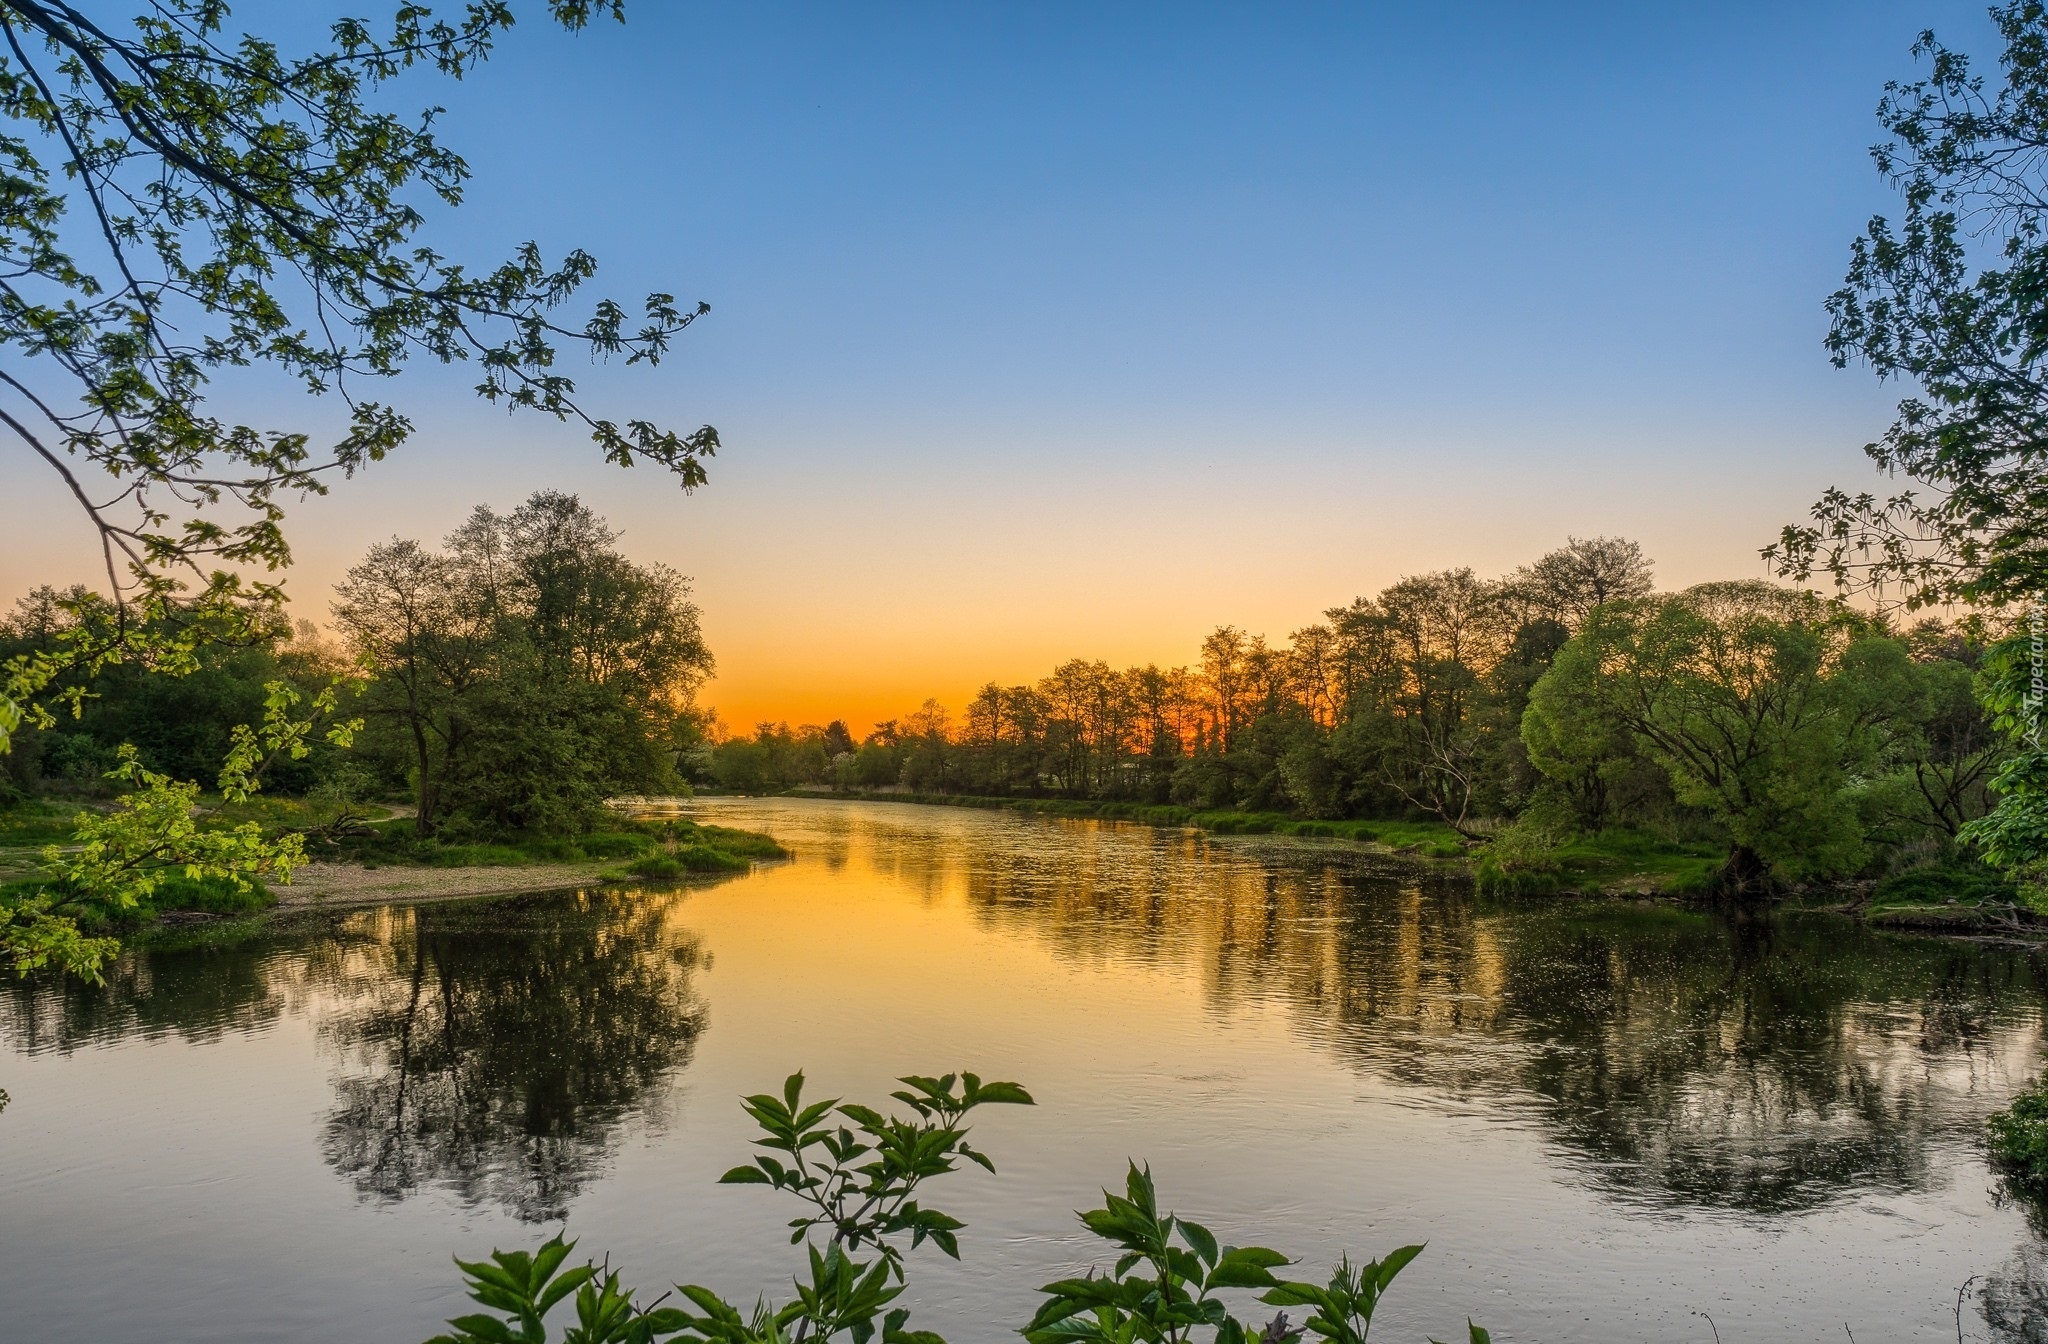
<path id="1" fill-rule="evenodd" d="M 465 78 L 516 12 L 395 4 L 287 53 L 236 35 L 221 0 L 0 0 L 0 451 L 61 481 L 106 582 L 61 647 L 0 666 L 0 750 L 109 662 L 182 672 L 207 639 L 272 631 L 285 502 L 408 440 L 385 387 L 416 359 L 471 367 L 492 404 L 580 424 L 612 463 L 705 479 L 709 426 L 606 418 L 563 373 L 578 350 L 655 363 L 705 305 L 653 293 L 578 307 L 596 270 L 586 252 L 528 244 L 475 266 L 432 244 L 430 213 L 461 205 L 469 170 L 436 137 L 436 109 L 385 94 L 399 76 Z M 621 18 L 623 2 L 545 12 L 578 31 Z M 215 410 L 225 369 L 299 387 L 305 420 Z M 223 793 L 254 789 L 264 752 L 301 750 L 305 723 L 272 719 Z M 115 871 L 66 871 L 55 895 L 0 906 L 0 955 L 96 965 L 104 947 L 61 916 L 80 887 L 131 899 L 164 865 L 289 869 L 293 854 L 256 836 L 223 848 L 166 832 L 182 795 L 139 768 L 129 783 L 147 807 L 88 844 L 117 852 Z"/>

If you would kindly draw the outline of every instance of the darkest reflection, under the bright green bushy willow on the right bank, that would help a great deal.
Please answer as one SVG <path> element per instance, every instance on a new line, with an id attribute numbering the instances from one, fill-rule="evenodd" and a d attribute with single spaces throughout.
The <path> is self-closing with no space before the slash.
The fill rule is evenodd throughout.
<path id="1" fill-rule="evenodd" d="M 1513 924 L 1520 1080 L 1608 1184 L 1661 1201 L 1778 1213 L 1917 1188 L 1929 1141 L 1972 1137 L 2038 1041 L 2017 957 L 1833 920 Z"/>

